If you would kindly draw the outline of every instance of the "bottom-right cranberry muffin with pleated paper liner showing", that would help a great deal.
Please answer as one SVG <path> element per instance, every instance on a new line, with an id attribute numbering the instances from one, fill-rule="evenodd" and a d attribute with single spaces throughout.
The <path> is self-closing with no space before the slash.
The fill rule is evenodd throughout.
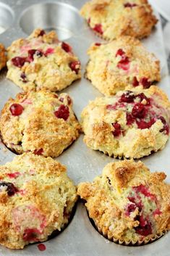
<path id="1" fill-rule="evenodd" d="M 80 183 L 98 231 L 119 244 L 146 244 L 170 229 L 170 185 L 143 162 L 111 162 L 92 183 Z"/>

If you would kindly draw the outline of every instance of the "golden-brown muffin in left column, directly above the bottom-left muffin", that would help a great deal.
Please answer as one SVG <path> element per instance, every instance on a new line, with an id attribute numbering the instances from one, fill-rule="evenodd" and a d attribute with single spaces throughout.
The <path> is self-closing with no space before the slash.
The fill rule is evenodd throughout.
<path id="1" fill-rule="evenodd" d="M 57 157 L 80 134 L 72 99 L 50 91 L 27 91 L 10 98 L 0 117 L 1 139 L 17 154 Z"/>

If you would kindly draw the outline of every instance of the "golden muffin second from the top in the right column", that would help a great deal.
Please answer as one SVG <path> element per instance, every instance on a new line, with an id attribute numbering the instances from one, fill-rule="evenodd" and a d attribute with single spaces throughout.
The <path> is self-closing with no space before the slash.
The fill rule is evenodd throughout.
<path id="1" fill-rule="evenodd" d="M 148 88 L 161 79 L 159 60 L 130 36 L 93 44 L 88 55 L 85 77 L 107 96 L 137 86 Z"/>

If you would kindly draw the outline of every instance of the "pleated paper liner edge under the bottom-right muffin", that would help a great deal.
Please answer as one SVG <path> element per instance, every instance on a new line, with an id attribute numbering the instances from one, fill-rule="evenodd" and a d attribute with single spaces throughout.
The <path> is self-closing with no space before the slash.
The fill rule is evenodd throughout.
<path id="1" fill-rule="evenodd" d="M 90 219 L 92 220 L 92 219 Z M 143 237 L 143 239 L 135 239 L 135 240 L 121 240 L 121 239 L 116 239 L 114 238 L 113 235 L 109 235 L 106 231 L 103 231 L 102 228 L 99 228 L 98 225 L 95 223 L 94 220 L 92 220 L 96 230 L 104 236 L 106 239 L 109 239 L 110 241 L 114 241 L 116 244 L 121 244 L 121 245 L 127 245 L 127 246 L 140 246 L 140 245 L 145 245 L 145 244 L 150 244 L 153 241 L 156 241 L 161 238 L 161 236 L 164 236 L 168 231 L 162 231 L 161 233 L 158 233 L 156 235 L 150 235 L 149 237 Z"/>

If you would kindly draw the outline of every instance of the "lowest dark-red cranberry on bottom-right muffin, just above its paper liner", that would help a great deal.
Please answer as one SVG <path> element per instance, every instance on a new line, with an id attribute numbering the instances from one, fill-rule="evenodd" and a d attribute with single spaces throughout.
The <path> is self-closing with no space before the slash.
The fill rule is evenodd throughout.
<path id="1" fill-rule="evenodd" d="M 148 236 L 149 234 L 152 234 L 151 223 L 148 220 L 145 220 L 143 216 L 140 216 L 139 221 L 140 225 L 135 227 L 136 233 L 140 234 L 140 236 Z"/>

